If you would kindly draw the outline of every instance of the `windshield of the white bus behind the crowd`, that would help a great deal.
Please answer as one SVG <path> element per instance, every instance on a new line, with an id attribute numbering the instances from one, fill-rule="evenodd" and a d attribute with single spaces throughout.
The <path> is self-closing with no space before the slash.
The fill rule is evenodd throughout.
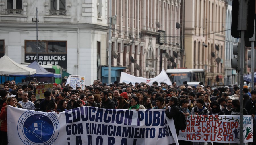
<path id="1" fill-rule="evenodd" d="M 167 73 L 171 82 L 176 82 L 176 85 L 182 85 L 184 81 L 190 82 L 191 81 L 191 73 Z"/>

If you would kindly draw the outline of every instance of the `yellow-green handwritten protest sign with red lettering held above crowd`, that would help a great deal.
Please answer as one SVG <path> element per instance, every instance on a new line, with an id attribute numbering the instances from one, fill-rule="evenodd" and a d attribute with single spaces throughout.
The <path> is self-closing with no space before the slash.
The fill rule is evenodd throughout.
<path id="1" fill-rule="evenodd" d="M 53 84 L 41 84 L 36 86 L 36 100 L 44 99 L 44 92 L 49 91 L 52 93 Z"/>

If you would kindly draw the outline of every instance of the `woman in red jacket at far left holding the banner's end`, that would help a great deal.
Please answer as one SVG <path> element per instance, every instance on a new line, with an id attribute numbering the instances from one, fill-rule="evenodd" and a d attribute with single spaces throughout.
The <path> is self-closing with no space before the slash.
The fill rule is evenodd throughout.
<path id="1" fill-rule="evenodd" d="M 1 145 L 7 144 L 7 108 L 8 108 L 8 105 L 16 107 L 14 97 L 9 97 L 6 100 L 6 103 L 3 104 L 3 107 L 0 112 L 0 119 L 3 120 L 1 123 L 1 132 L 2 132 Z"/>

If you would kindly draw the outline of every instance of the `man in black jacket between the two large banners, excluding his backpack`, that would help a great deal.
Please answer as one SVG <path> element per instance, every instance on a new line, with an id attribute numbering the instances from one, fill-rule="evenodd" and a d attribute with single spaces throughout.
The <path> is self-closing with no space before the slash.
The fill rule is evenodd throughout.
<path id="1" fill-rule="evenodd" d="M 178 128 L 178 118 L 180 117 L 179 115 L 179 103 L 178 103 L 178 98 L 177 97 L 171 97 L 169 100 L 169 106 L 165 109 L 165 114 L 166 114 L 166 117 L 168 118 L 173 118 L 174 120 L 174 125 L 176 126 L 175 127 L 175 130 L 176 130 L 176 134 L 177 136 L 179 136 L 179 128 Z M 169 110 L 169 107 L 171 109 L 171 111 Z"/>

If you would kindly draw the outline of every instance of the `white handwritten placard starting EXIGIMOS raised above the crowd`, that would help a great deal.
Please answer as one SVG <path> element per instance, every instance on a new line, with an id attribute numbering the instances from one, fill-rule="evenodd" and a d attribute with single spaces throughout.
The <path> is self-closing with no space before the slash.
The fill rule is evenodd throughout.
<path id="1" fill-rule="evenodd" d="M 69 75 L 67 79 L 67 83 L 65 85 L 69 84 L 69 86 L 72 87 L 74 90 L 76 89 L 76 85 L 77 85 L 78 87 L 81 87 L 82 90 L 84 90 L 85 89 L 84 81 L 85 81 L 84 76 Z"/>

